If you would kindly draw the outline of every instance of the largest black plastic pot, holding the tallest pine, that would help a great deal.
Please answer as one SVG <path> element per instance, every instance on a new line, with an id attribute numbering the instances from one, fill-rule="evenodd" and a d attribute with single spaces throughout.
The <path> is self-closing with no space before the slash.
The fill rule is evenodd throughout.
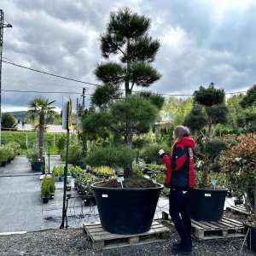
<path id="1" fill-rule="evenodd" d="M 163 186 L 147 189 L 119 189 L 92 185 L 102 228 L 110 233 L 133 235 L 147 232 Z"/>

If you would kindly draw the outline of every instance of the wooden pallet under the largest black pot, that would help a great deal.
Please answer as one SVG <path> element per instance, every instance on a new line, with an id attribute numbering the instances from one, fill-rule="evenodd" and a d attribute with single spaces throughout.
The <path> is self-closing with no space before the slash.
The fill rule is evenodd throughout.
<path id="1" fill-rule="evenodd" d="M 170 230 L 163 224 L 153 222 L 150 230 L 136 235 L 118 235 L 102 229 L 100 223 L 84 223 L 87 239 L 93 242 L 93 248 L 124 247 L 142 244 L 148 241 L 160 241 L 170 237 Z"/>

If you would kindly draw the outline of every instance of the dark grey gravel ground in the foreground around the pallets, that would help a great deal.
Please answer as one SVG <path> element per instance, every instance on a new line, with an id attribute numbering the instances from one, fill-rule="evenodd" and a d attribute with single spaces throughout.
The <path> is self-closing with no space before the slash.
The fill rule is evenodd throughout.
<path id="1" fill-rule="evenodd" d="M 170 256 L 172 242 L 176 241 L 177 232 L 172 227 L 171 237 L 165 241 L 148 242 L 137 246 L 116 247 L 111 249 L 92 249 L 92 242 L 87 241 L 84 230 L 44 230 L 26 233 L 23 235 L 0 236 L 1 256 L 146 256 L 160 255 Z M 193 253 L 191 255 L 239 255 L 243 239 L 230 238 L 211 241 L 193 241 Z M 240 255 L 255 256 L 255 252 L 247 249 L 247 244 L 241 250 Z"/>

